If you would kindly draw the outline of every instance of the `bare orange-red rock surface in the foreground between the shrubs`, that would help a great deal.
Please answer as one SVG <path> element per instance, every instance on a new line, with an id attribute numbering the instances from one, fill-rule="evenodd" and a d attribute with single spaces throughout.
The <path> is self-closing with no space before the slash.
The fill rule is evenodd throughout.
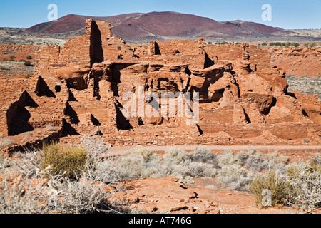
<path id="1" fill-rule="evenodd" d="M 218 190 L 206 188 L 216 185 Z M 255 205 L 253 195 L 247 192 L 220 190 L 213 179 L 195 178 L 195 184 L 185 185 L 176 177 L 147 178 L 131 180 L 121 187 L 125 192 L 108 196 L 113 203 L 130 202 L 131 207 L 143 212 L 170 214 L 284 214 L 299 213 L 291 207 L 270 207 L 260 209 Z M 316 210 L 315 213 L 320 213 Z"/>

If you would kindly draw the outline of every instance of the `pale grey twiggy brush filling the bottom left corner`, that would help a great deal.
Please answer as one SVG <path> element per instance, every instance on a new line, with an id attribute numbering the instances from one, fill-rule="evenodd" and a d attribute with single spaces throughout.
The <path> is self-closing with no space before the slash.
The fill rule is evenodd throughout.
<path id="1" fill-rule="evenodd" d="M 39 181 L 31 185 L 30 180 L 23 178 L 13 186 L 7 180 L 0 180 L 0 213 L 1 214 L 90 214 L 90 213 L 126 213 L 108 203 L 103 191 L 106 185 L 92 184 L 93 181 L 83 178 L 80 181 L 61 179 L 50 176 L 46 183 Z"/>

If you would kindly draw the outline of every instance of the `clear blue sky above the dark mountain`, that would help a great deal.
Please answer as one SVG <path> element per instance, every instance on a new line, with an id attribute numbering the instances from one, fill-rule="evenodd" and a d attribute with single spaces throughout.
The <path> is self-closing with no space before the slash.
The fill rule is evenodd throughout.
<path id="1" fill-rule="evenodd" d="M 58 17 L 176 11 L 216 21 L 253 21 L 288 29 L 321 28 L 321 0 L 0 0 L 0 27 L 28 28 L 46 22 L 49 4 L 58 6 Z M 272 6 L 272 21 L 261 19 L 263 4 Z"/>

